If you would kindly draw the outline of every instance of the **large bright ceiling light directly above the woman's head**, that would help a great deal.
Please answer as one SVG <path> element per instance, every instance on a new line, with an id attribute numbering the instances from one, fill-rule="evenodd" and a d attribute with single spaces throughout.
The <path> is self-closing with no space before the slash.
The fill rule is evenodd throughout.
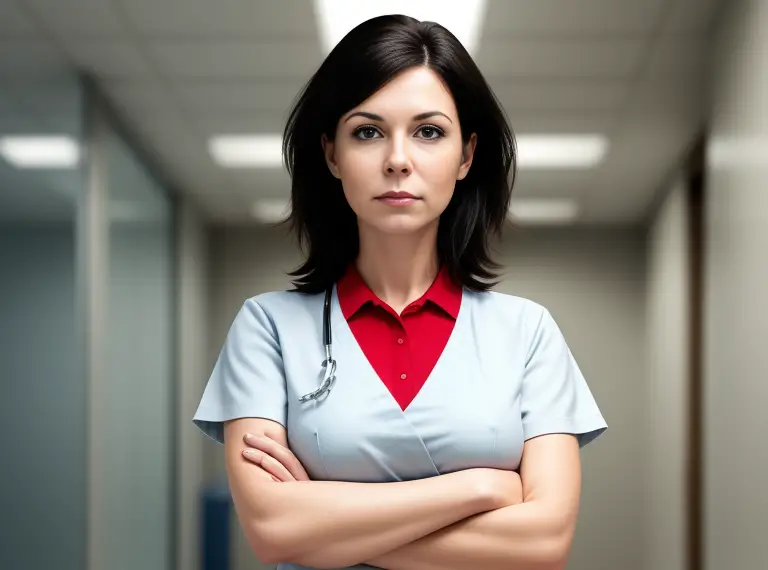
<path id="1" fill-rule="evenodd" d="M 485 5 L 485 0 L 315 0 L 315 16 L 325 53 L 358 24 L 385 14 L 437 22 L 474 53 L 480 43 Z"/>

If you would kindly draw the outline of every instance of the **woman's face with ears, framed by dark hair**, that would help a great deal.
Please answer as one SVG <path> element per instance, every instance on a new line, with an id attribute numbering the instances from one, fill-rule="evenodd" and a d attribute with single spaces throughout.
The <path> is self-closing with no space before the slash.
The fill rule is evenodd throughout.
<path id="1" fill-rule="evenodd" d="M 473 134 L 463 145 L 453 97 L 438 75 L 418 67 L 343 115 L 335 140 L 322 143 L 361 230 L 404 234 L 436 227 L 475 141 Z"/>

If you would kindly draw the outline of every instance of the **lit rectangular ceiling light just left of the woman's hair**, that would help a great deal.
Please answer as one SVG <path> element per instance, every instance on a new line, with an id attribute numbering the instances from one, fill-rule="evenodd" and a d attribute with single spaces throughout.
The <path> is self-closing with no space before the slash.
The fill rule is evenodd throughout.
<path id="1" fill-rule="evenodd" d="M 283 164 L 281 135 L 220 135 L 208 141 L 208 151 L 226 168 L 278 168 Z"/>

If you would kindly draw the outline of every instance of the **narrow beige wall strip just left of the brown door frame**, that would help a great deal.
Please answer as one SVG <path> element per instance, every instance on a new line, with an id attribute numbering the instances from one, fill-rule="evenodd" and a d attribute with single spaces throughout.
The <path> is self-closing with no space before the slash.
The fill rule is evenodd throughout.
<path id="1" fill-rule="evenodd" d="M 648 232 L 646 568 L 686 568 L 690 275 L 686 188 L 675 179 Z"/>

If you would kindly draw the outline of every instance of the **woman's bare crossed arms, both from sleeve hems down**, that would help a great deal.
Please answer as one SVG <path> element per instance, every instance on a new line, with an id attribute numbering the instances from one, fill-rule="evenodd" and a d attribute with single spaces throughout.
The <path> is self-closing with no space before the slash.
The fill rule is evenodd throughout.
<path id="1" fill-rule="evenodd" d="M 246 445 L 246 434 L 257 437 Z M 573 539 L 581 467 L 570 435 L 528 440 L 519 476 L 468 469 L 398 483 L 309 481 L 269 420 L 228 422 L 225 451 L 238 519 L 262 562 L 561 570 Z"/>

